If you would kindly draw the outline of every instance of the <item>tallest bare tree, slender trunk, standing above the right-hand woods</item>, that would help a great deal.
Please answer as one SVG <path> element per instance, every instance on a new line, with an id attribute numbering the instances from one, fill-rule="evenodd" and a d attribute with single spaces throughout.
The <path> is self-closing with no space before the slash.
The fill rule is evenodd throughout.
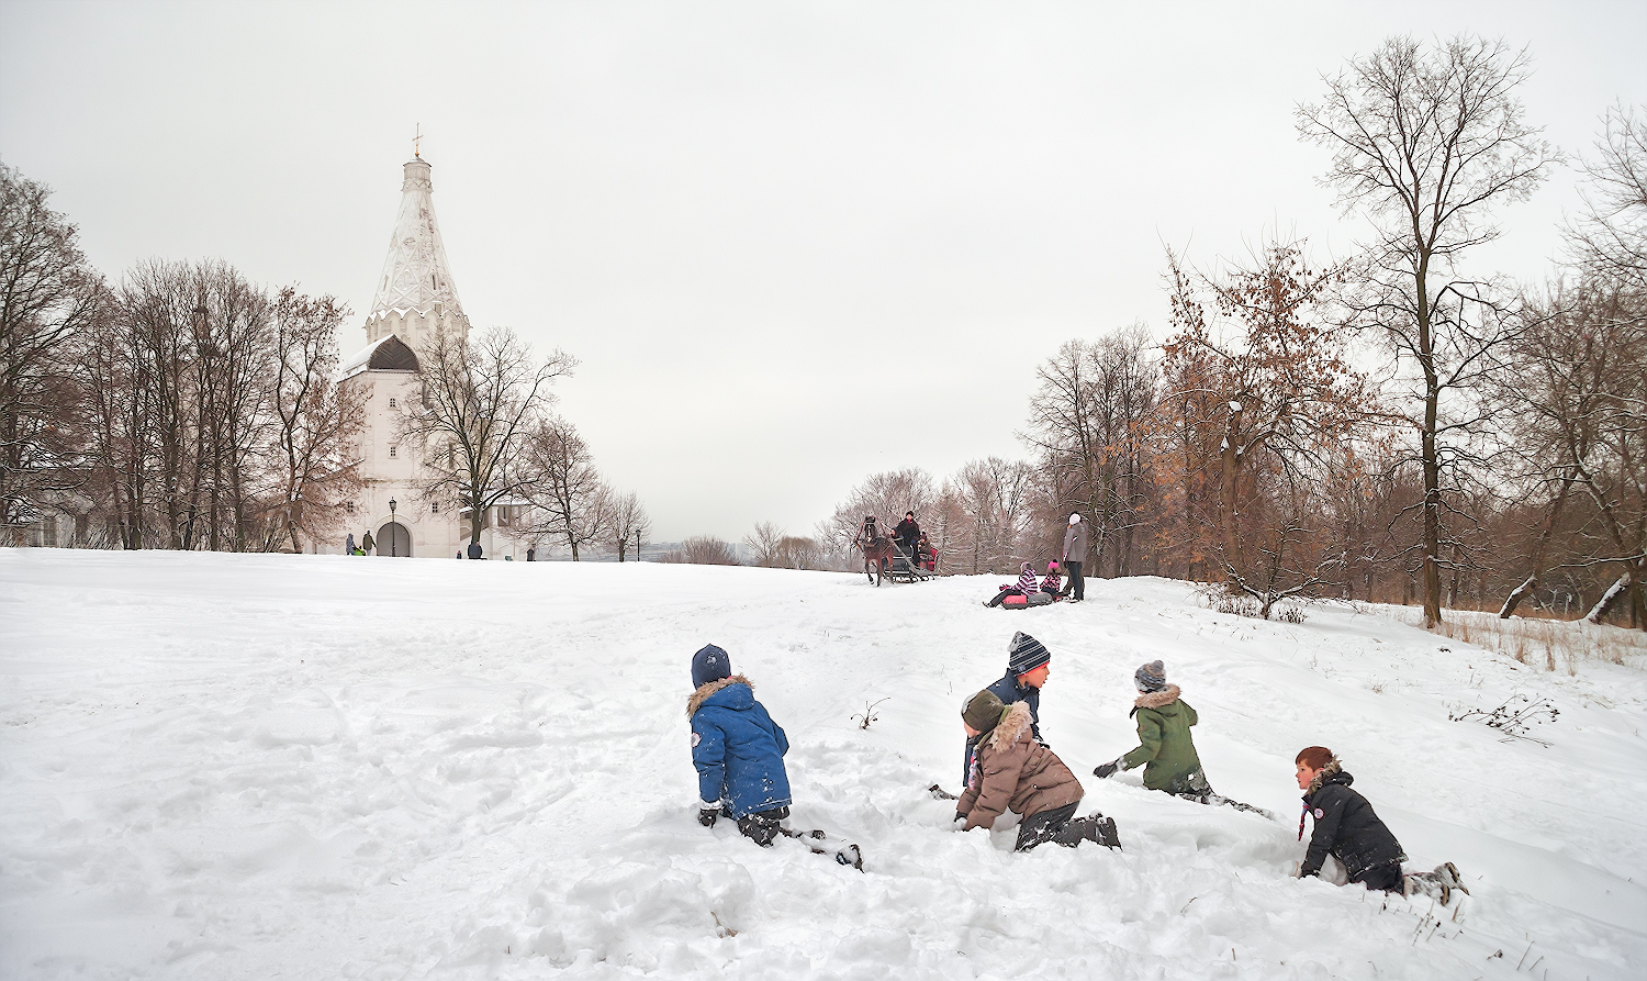
<path id="1" fill-rule="evenodd" d="M 1357 322 L 1379 331 L 1410 383 L 1428 625 L 1441 622 L 1443 472 L 1456 437 L 1479 424 L 1467 396 L 1514 338 L 1489 284 L 1458 275 L 1458 262 L 1497 237 L 1494 209 L 1525 199 L 1560 160 L 1523 122 L 1515 92 L 1528 71 L 1527 54 L 1502 41 L 1459 36 L 1425 51 L 1390 38 L 1326 77 L 1323 102 L 1298 107 L 1299 135 L 1332 150 L 1324 183 L 1375 229 Z"/>

